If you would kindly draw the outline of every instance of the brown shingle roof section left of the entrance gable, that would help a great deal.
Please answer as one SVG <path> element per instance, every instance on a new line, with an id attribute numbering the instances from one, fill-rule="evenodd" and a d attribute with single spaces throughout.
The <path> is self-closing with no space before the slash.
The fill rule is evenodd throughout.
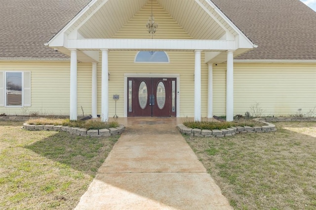
<path id="1" fill-rule="evenodd" d="M 90 0 L 1 0 L 0 59 L 68 59 L 44 46 Z"/>

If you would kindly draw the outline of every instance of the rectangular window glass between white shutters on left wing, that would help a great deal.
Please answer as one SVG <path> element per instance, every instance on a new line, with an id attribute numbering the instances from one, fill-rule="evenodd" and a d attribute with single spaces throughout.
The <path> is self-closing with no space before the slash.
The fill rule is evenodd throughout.
<path id="1" fill-rule="evenodd" d="M 6 105 L 22 105 L 22 72 L 6 73 Z"/>

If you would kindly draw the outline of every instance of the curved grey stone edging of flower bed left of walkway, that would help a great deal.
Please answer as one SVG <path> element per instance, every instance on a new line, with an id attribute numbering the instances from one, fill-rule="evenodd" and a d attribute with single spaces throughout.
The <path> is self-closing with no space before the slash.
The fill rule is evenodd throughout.
<path id="1" fill-rule="evenodd" d="M 73 128 L 61 125 L 30 125 L 28 123 L 24 123 L 23 128 L 29 131 L 66 131 L 72 135 L 82 137 L 110 137 L 119 135 L 125 130 L 125 126 L 122 124 L 119 124 L 119 127 L 116 128 L 100 130 L 86 130 L 85 128 Z"/>

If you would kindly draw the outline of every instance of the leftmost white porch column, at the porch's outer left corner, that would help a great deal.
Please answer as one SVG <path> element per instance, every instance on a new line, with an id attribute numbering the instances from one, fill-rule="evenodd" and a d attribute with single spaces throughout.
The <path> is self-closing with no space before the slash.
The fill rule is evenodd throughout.
<path id="1" fill-rule="evenodd" d="M 70 120 L 77 120 L 77 49 L 70 52 Z"/>

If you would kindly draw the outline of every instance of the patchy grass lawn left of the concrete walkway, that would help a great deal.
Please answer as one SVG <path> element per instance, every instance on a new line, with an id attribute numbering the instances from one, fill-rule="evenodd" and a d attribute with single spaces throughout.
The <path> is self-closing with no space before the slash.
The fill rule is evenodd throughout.
<path id="1" fill-rule="evenodd" d="M 27 131 L 0 121 L 0 209 L 73 209 L 119 136 Z"/>

